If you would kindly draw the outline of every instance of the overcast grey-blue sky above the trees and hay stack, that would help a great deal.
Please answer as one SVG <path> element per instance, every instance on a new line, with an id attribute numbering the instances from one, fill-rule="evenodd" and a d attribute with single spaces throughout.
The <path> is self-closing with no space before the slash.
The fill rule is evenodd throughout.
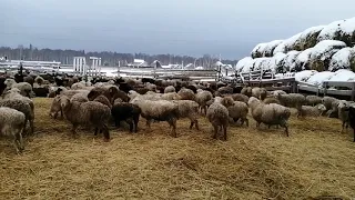
<path id="1" fill-rule="evenodd" d="M 355 16 L 355 0 L 0 0 L 0 46 L 240 59 Z"/>

